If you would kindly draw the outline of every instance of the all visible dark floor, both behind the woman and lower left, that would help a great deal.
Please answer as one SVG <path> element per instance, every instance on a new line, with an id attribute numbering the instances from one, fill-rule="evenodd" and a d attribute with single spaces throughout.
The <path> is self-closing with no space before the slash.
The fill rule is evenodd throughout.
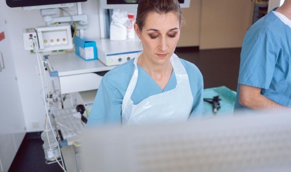
<path id="1" fill-rule="evenodd" d="M 200 69 L 205 88 L 227 86 L 236 90 L 239 73 L 240 48 L 197 51 L 178 48 L 176 54 Z M 9 172 L 62 172 L 57 164 L 46 165 L 41 133 L 26 134 Z"/>

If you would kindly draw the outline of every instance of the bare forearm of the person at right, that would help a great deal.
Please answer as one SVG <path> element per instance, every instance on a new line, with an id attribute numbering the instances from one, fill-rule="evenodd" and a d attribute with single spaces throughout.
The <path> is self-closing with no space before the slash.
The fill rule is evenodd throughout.
<path id="1" fill-rule="evenodd" d="M 286 108 L 271 99 L 261 94 L 261 88 L 247 85 L 240 85 L 240 99 L 241 105 L 254 109 L 274 109 L 274 108 Z"/>

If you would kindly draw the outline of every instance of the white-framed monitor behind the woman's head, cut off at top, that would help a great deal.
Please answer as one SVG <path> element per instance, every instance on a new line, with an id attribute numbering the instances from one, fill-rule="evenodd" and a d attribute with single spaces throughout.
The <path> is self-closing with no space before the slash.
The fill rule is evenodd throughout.
<path id="1" fill-rule="evenodd" d="M 189 8 L 190 0 L 178 0 L 181 8 Z M 137 8 L 138 0 L 100 0 L 102 9 Z"/>

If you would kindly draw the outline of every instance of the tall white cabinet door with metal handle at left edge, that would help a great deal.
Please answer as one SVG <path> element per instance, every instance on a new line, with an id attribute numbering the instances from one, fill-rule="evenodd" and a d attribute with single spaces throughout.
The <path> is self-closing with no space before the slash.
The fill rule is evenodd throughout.
<path id="1" fill-rule="evenodd" d="M 25 135 L 15 66 L 0 0 L 0 172 L 7 172 Z"/>

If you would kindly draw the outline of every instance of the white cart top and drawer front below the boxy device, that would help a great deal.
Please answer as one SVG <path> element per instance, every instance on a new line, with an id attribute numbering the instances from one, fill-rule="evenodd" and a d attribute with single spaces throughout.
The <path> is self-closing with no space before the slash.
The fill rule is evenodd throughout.
<path id="1" fill-rule="evenodd" d="M 116 66 L 105 66 L 99 60 L 83 60 L 75 53 L 48 56 L 50 76 L 58 77 L 61 93 L 98 89 L 102 75 Z"/>

